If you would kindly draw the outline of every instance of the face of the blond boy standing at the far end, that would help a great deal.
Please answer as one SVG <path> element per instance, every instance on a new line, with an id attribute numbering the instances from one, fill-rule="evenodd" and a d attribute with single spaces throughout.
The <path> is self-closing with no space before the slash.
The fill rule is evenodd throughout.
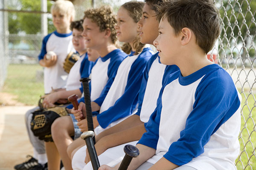
<path id="1" fill-rule="evenodd" d="M 64 30 L 70 27 L 71 17 L 67 14 L 60 14 L 58 11 L 52 11 L 52 22 L 57 30 Z"/>

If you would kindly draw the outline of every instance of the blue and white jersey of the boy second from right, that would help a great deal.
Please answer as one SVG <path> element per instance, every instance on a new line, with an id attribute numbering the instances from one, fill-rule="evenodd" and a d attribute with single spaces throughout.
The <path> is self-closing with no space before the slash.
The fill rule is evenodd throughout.
<path id="1" fill-rule="evenodd" d="M 161 64 L 158 53 L 153 54 L 148 60 L 140 86 L 139 106 L 135 114 L 145 123 L 157 106 L 157 98 L 164 80 L 179 70 L 176 65 Z"/>

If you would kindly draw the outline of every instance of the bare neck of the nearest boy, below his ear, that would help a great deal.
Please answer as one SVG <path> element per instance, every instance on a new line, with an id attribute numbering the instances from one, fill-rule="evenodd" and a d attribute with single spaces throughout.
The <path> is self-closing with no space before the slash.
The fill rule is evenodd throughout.
<path id="1" fill-rule="evenodd" d="M 177 66 L 183 77 L 189 76 L 207 65 L 214 64 L 207 59 L 203 51 L 183 51 L 182 53 L 182 57 L 178 58 Z"/>

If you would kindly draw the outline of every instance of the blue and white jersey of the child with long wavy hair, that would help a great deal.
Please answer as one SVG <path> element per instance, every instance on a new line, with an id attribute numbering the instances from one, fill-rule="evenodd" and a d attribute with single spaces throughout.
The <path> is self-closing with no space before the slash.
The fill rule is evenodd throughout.
<path id="1" fill-rule="evenodd" d="M 143 71 L 151 56 L 151 48 L 143 48 L 140 54 L 129 55 L 122 61 L 97 115 L 102 128 L 116 125 L 136 109 Z"/>

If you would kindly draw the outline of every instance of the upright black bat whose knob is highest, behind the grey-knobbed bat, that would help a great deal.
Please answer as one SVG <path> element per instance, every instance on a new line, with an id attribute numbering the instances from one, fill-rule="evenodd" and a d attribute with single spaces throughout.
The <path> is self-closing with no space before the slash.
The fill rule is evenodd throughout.
<path id="1" fill-rule="evenodd" d="M 88 131 L 94 132 L 93 114 L 92 114 L 91 101 L 90 101 L 89 81 L 90 81 L 90 78 L 88 77 L 80 79 L 80 82 L 82 82 L 83 89 L 84 89 L 84 103 L 85 103 L 85 109 L 86 109 Z M 96 143 L 94 136 L 93 136 L 93 142 L 94 144 Z"/>

